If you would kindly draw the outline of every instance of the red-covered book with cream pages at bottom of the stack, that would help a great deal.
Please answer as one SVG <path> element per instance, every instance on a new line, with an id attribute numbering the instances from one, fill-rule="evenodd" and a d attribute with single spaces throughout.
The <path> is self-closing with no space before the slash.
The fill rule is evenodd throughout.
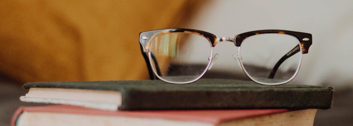
<path id="1" fill-rule="evenodd" d="M 20 107 L 12 126 L 23 125 L 312 125 L 316 109 L 104 111 L 78 106 Z"/>

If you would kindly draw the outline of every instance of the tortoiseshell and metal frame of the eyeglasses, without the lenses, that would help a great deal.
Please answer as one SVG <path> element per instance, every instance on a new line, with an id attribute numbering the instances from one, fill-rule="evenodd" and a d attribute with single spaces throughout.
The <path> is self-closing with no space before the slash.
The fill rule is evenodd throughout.
<path id="1" fill-rule="evenodd" d="M 160 29 L 160 30 L 152 30 L 152 31 L 145 31 L 145 32 L 141 32 L 140 33 L 140 49 L 142 52 L 143 57 L 145 58 L 147 67 L 148 67 L 148 71 L 149 71 L 149 75 L 151 80 L 155 80 L 155 79 L 160 79 L 164 82 L 168 82 L 168 83 L 181 83 L 181 84 L 185 84 L 185 83 L 191 83 L 191 82 L 195 82 L 197 81 L 199 78 L 201 78 L 201 76 L 203 76 L 203 74 L 207 71 L 210 63 L 208 64 L 208 67 L 206 68 L 205 72 L 198 78 L 196 78 L 193 81 L 189 81 L 189 82 L 170 82 L 167 80 L 164 80 L 163 78 L 161 78 L 160 76 L 158 76 L 158 74 L 160 74 L 160 70 L 158 67 L 158 63 L 156 63 L 155 61 L 155 56 L 154 54 L 150 52 L 150 40 L 152 40 L 155 36 L 157 36 L 158 34 L 162 34 L 162 33 L 170 33 L 170 32 L 186 32 L 186 33 L 193 33 L 193 34 L 198 34 L 200 36 L 204 36 L 205 38 L 207 38 L 211 44 L 212 47 L 215 47 L 216 44 L 218 42 L 222 42 L 222 41 L 230 41 L 230 42 L 234 42 L 235 46 L 240 47 L 241 43 L 243 42 L 244 39 L 246 39 L 247 37 L 250 36 L 254 36 L 257 34 L 267 34 L 267 33 L 279 33 L 279 34 L 288 34 L 291 35 L 295 38 L 297 38 L 300 42 L 300 46 L 301 46 L 301 50 L 303 54 L 308 53 L 309 47 L 312 44 L 312 35 L 310 33 L 304 33 L 304 32 L 296 32 L 296 31 L 287 31 L 287 30 L 258 30 L 258 31 L 250 31 L 250 32 L 245 32 L 245 33 L 241 33 L 238 34 L 233 38 L 226 38 L 226 37 L 222 37 L 222 38 L 217 38 L 214 34 L 212 33 L 208 33 L 208 32 L 204 32 L 204 31 L 200 31 L 200 30 L 193 30 L 193 29 Z M 299 46 L 299 44 L 297 45 Z M 297 48 L 297 46 L 295 46 L 294 48 Z M 293 48 L 293 49 L 294 49 Z M 292 52 L 290 53 L 290 55 L 284 54 L 283 57 L 276 63 L 276 65 L 274 66 L 274 68 L 271 71 L 271 74 L 269 75 L 268 78 L 273 78 L 277 69 L 279 68 L 279 66 L 289 57 L 293 56 L 295 53 L 298 53 L 300 50 L 288 50 L 288 52 Z M 211 53 L 213 54 L 213 53 Z M 212 61 L 212 57 L 210 56 L 210 62 Z M 153 59 L 153 60 L 152 60 Z M 241 62 L 241 60 L 239 60 Z M 155 64 L 156 70 L 152 69 L 152 64 Z M 241 66 L 242 67 L 242 66 Z M 242 68 L 244 70 L 244 68 Z M 298 68 L 299 69 L 299 68 Z M 298 70 L 297 70 L 298 71 Z M 245 70 L 244 70 L 245 72 Z M 245 72 L 246 73 L 246 72 Z M 298 72 L 295 73 L 295 75 L 288 81 L 282 82 L 282 83 L 263 83 L 263 82 L 258 82 L 256 80 L 254 80 L 253 78 L 251 78 L 249 75 L 249 78 L 251 78 L 251 80 L 259 83 L 259 84 L 264 84 L 264 85 L 279 85 L 279 84 L 284 84 L 287 83 L 289 81 L 291 81 Z"/>

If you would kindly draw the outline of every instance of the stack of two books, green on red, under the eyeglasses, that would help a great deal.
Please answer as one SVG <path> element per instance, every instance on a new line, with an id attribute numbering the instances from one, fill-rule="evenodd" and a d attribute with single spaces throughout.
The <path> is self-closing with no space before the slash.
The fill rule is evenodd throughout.
<path id="1" fill-rule="evenodd" d="M 316 110 L 330 108 L 333 98 L 332 87 L 224 79 L 35 82 L 23 87 L 29 92 L 22 101 L 60 105 L 20 107 L 12 126 L 310 126 Z"/>

